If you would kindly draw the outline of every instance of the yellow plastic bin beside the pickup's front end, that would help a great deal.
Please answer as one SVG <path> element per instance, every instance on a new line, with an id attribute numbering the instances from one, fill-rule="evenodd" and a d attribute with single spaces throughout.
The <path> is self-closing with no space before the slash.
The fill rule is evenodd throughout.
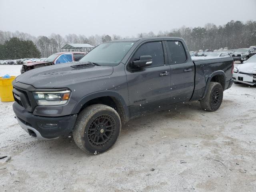
<path id="1" fill-rule="evenodd" d="M 12 95 L 12 81 L 15 79 L 15 76 L 10 76 L 10 78 L 0 77 L 0 99 L 2 102 L 14 101 Z"/>

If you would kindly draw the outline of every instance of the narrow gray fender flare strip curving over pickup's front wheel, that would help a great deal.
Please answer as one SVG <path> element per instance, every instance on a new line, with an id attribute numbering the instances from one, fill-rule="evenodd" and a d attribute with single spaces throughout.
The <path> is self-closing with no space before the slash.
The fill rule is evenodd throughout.
<path id="1" fill-rule="evenodd" d="M 124 101 L 124 98 L 118 94 L 117 92 L 114 91 L 100 91 L 100 92 L 94 92 L 92 94 L 88 94 L 84 97 L 82 97 L 76 104 L 76 106 L 74 107 L 72 114 L 78 114 L 80 109 L 82 108 L 82 106 L 84 106 L 84 104 L 86 104 L 88 101 L 99 98 L 99 97 L 104 97 L 104 96 L 109 96 L 109 97 L 113 97 L 116 100 L 120 101 L 120 103 L 122 104 L 122 108 L 124 110 L 124 118 L 125 120 L 128 121 L 128 119 L 130 118 L 130 111 Z"/>

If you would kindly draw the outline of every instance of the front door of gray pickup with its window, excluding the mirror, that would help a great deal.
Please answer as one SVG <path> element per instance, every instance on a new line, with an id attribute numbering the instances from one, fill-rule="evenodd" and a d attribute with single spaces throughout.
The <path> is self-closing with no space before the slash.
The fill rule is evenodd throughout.
<path id="1" fill-rule="evenodd" d="M 161 41 L 142 44 L 132 56 L 152 56 L 152 65 L 142 69 L 128 66 L 129 104 L 131 116 L 169 105 L 170 66 L 165 65 L 164 48 Z"/>

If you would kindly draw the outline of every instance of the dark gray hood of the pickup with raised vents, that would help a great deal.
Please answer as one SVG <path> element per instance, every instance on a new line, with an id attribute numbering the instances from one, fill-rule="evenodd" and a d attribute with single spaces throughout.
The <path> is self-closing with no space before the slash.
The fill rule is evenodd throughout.
<path id="1" fill-rule="evenodd" d="M 30 84 L 35 88 L 66 88 L 78 81 L 109 76 L 113 67 L 92 66 L 72 68 L 72 65 L 83 62 L 62 63 L 29 70 L 16 77 L 16 82 Z"/>

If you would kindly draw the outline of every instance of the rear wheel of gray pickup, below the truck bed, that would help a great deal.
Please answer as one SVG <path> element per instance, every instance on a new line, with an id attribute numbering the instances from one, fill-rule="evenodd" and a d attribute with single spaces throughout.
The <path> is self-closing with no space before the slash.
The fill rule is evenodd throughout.
<path id="1" fill-rule="evenodd" d="M 210 82 L 206 95 L 202 100 L 200 100 L 201 107 L 206 111 L 216 111 L 222 103 L 222 98 L 223 88 L 221 84 L 217 82 Z"/>

